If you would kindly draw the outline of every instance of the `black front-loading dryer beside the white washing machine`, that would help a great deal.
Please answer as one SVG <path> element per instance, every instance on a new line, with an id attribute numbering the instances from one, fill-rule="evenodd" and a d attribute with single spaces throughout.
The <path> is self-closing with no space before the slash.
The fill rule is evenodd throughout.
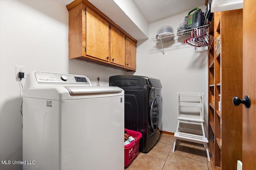
<path id="1" fill-rule="evenodd" d="M 162 84 L 146 76 L 110 76 L 109 86 L 124 90 L 124 127 L 142 133 L 140 152 L 149 152 L 160 137 Z"/>

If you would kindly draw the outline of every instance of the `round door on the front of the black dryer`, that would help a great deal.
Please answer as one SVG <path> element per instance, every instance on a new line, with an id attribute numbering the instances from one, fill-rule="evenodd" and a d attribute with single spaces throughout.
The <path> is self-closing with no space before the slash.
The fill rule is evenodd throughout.
<path id="1" fill-rule="evenodd" d="M 150 107 L 150 122 L 153 131 L 160 131 L 162 122 L 162 102 L 160 96 L 155 96 Z"/>

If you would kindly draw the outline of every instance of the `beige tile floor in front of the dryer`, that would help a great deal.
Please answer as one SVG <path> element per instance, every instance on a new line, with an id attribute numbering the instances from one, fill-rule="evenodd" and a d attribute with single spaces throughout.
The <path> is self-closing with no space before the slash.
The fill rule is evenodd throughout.
<path id="1" fill-rule="evenodd" d="M 212 170 L 204 145 L 177 140 L 172 152 L 173 143 L 174 137 L 161 134 L 154 148 L 139 152 L 125 170 Z"/>

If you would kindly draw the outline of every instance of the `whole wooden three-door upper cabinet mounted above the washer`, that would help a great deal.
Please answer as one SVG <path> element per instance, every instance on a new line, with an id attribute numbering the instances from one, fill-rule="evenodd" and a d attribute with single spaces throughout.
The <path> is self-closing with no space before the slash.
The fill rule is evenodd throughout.
<path id="1" fill-rule="evenodd" d="M 74 0 L 67 9 L 69 59 L 136 71 L 136 39 L 88 0 Z"/>

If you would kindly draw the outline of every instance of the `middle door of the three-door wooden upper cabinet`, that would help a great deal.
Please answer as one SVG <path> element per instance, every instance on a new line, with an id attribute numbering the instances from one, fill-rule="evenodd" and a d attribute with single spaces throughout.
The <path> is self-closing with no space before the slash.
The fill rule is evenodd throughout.
<path id="1" fill-rule="evenodd" d="M 125 35 L 116 29 L 110 27 L 110 57 L 111 63 L 124 66 L 125 64 Z"/>

